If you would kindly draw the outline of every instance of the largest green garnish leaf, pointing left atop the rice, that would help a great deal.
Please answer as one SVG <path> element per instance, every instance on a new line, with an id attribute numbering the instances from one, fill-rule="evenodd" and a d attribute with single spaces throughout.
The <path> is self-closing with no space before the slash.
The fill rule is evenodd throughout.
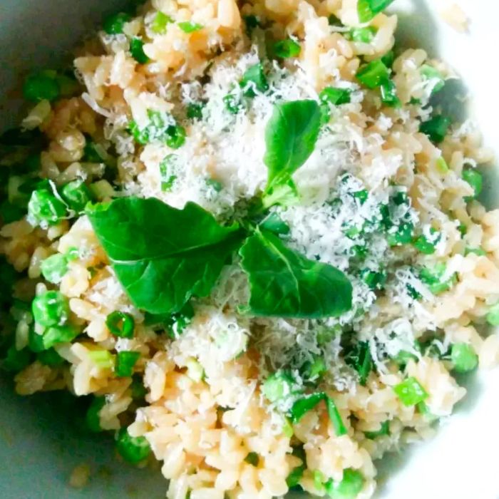
<path id="1" fill-rule="evenodd" d="M 240 243 L 237 224 L 218 225 L 202 207 L 124 197 L 87 210 L 120 283 L 135 307 L 173 314 L 210 293 Z"/>

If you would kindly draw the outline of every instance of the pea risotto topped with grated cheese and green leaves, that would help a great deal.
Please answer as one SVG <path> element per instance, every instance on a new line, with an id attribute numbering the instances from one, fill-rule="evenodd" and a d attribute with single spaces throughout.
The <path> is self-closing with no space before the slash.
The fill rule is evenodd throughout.
<path id="1" fill-rule="evenodd" d="M 499 360 L 492 158 L 389 4 L 136 1 L 26 78 L 2 366 L 85 396 L 169 499 L 371 498 Z"/>

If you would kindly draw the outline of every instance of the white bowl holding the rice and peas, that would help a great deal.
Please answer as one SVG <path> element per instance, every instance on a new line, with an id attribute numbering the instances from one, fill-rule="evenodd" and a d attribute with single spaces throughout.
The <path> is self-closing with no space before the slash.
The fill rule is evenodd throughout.
<path id="1" fill-rule="evenodd" d="M 471 114 L 480 123 L 485 143 L 499 149 L 499 4 L 462 0 L 471 19 L 470 33 L 458 34 L 438 16 L 448 3 L 396 0 L 393 10 L 403 13 L 399 40 L 426 48 L 456 68 L 473 98 Z M 1 128 L 19 122 L 21 101 L 7 92 L 19 88 L 19 77 L 61 61 L 78 38 L 120 4 L 1 0 Z M 497 170 L 491 168 L 487 179 L 485 199 L 493 207 L 499 205 Z M 403 448 L 380 464 L 379 499 L 499 499 L 499 371 L 481 373 L 469 385 L 468 398 L 433 441 Z M 46 395 L 15 396 L 8 379 L 0 379 L 0 390 L 1 499 L 121 499 L 124 492 L 137 499 L 165 497 L 159 470 L 136 470 L 115 462 L 110 438 L 78 433 L 73 424 L 76 414 L 69 406 Z M 93 478 L 84 490 L 74 490 L 68 486 L 68 475 L 81 463 L 91 464 Z"/>

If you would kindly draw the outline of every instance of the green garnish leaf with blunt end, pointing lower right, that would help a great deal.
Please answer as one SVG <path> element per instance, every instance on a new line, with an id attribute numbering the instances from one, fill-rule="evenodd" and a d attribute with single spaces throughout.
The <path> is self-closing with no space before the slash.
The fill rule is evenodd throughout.
<path id="1" fill-rule="evenodd" d="M 257 229 L 240 255 L 254 315 L 319 319 L 351 309 L 352 287 L 343 272 L 285 247 L 270 232 Z"/>

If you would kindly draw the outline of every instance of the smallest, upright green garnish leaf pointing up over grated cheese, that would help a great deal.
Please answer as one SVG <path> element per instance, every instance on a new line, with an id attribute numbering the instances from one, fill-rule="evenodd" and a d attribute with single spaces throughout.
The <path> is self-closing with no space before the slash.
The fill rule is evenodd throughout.
<path id="1" fill-rule="evenodd" d="M 269 169 L 266 194 L 291 180 L 314 150 L 321 110 L 316 101 L 277 104 L 265 128 L 267 150 L 264 163 Z"/>

